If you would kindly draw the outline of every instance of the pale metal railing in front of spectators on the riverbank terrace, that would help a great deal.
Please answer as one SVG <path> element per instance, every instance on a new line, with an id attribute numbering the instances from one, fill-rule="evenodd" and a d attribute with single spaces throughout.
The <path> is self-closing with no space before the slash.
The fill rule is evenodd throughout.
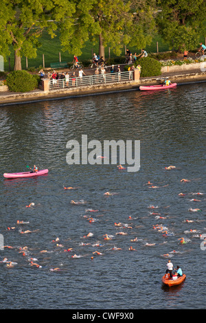
<path id="1" fill-rule="evenodd" d="M 108 83 L 116 83 L 116 82 L 125 82 L 133 80 L 133 71 L 122 71 L 120 73 L 108 73 L 108 74 L 98 74 L 91 76 L 82 76 L 81 77 L 73 77 L 69 76 L 69 80 L 65 78 L 59 80 L 50 80 L 49 82 L 49 90 L 51 89 L 66 89 L 73 87 L 82 87 L 82 86 L 91 86 L 91 85 L 101 85 Z"/>

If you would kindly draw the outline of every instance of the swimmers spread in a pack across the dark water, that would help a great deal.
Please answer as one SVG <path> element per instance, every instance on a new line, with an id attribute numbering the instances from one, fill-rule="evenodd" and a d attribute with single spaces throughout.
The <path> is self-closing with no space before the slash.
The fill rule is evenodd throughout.
<path id="1" fill-rule="evenodd" d="M 119 165 L 119 166 L 121 166 L 120 168 L 124 168 L 124 166 L 122 166 L 122 165 Z M 165 170 L 175 170 L 175 169 L 176 169 L 175 166 L 165 167 Z M 190 180 L 181 179 L 180 182 L 181 183 L 190 183 Z M 163 188 L 165 186 L 168 186 L 168 184 L 165 186 L 158 186 L 158 185 L 155 185 L 154 183 L 152 183 L 151 181 L 148 181 L 148 183 L 146 183 L 146 185 L 148 186 L 148 188 Z M 79 189 L 79 187 L 63 186 L 63 190 L 78 190 L 78 189 Z M 117 194 L 119 194 L 119 193 L 106 191 L 103 193 L 103 196 L 106 197 L 106 199 L 110 199 L 110 198 L 113 198 Z M 198 199 L 189 199 L 189 201 L 192 201 L 192 202 L 193 201 L 200 202 L 201 197 L 203 197 L 203 192 L 195 192 L 195 193 L 190 193 L 190 194 L 188 194 L 188 193 L 186 194 L 186 193 L 181 192 L 178 194 L 178 196 L 179 197 L 189 197 L 189 195 L 191 195 L 191 194 L 198 196 Z M 114 197 L 114 199 L 115 199 L 115 197 Z M 80 199 L 79 201 L 74 201 L 72 199 L 70 203 L 71 203 L 71 205 L 87 205 L 87 201 L 84 201 L 84 199 Z M 32 202 L 32 203 L 26 205 L 25 207 L 32 209 L 35 207 L 35 204 Z M 170 205 L 165 206 L 165 208 L 169 208 L 169 207 L 170 207 Z M 168 219 L 168 216 L 163 216 L 165 214 L 162 215 L 161 212 L 159 212 L 159 207 L 157 205 L 156 206 L 149 205 L 148 209 L 149 209 L 150 215 L 155 215 L 155 219 L 161 219 L 161 220 Z M 190 208 L 188 211 L 198 212 L 198 211 L 201 211 L 201 209 Z M 93 214 L 95 216 L 93 216 L 93 215 L 91 216 L 91 214 Z M 99 210 L 96 210 L 93 208 L 86 208 L 84 210 L 84 216 L 82 216 L 82 217 L 83 217 L 83 219 L 87 219 L 87 221 L 89 223 L 91 223 L 91 225 L 93 225 L 93 223 L 98 223 L 98 221 L 100 221 L 100 219 L 102 219 L 102 218 L 100 218 L 100 216 L 104 216 L 104 214 L 102 214 L 102 212 L 100 212 Z M 122 247 L 116 246 L 116 244 L 118 243 L 118 236 L 121 236 L 121 237 L 125 236 L 126 241 L 128 241 L 128 243 L 139 243 L 140 242 L 141 245 L 143 245 L 145 247 L 152 247 L 152 246 L 157 245 L 157 243 L 148 243 L 148 241 L 145 242 L 143 239 L 139 239 L 137 236 L 134 236 L 134 232 L 136 231 L 136 229 L 138 230 L 138 227 L 141 227 L 139 225 L 134 224 L 134 221 L 136 219 L 138 219 L 138 218 L 137 217 L 134 218 L 133 216 L 129 215 L 127 217 L 127 221 L 126 221 L 128 223 L 114 221 L 113 227 L 115 228 L 115 230 L 118 230 L 118 232 L 116 232 L 115 234 L 108 234 L 108 233 L 104 232 L 104 234 L 102 234 L 102 237 L 100 238 L 100 240 L 96 241 L 95 243 L 93 241 L 93 239 L 95 238 L 95 235 L 93 234 L 93 232 L 89 232 L 87 234 L 84 234 L 84 236 L 81 237 L 81 239 L 83 239 L 83 241 L 80 242 L 79 246 L 90 245 L 91 247 L 97 248 L 95 251 L 91 252 L 91 254 L 90 254 L 90 258 L 94 259 L 95 256 L 104 256 L 105 252 L 102 252 L 102 249 L 103 249 L 102 247 L 104 247 L 105 244 L 107 246 L 106 250 L 122 250 L 122 249 L 124 249 Z M 194 220 L 189 220 L 189 219 L 186 219 L 184 221 L 185 221 L 185 223 L 193 223 L 194 222 Z M 7 230 L 8 231 L 15 231 L 16 230 L 20 234 L 32 234 L 32 233 L 39 232 L 39 230 L 32 231 L 32 230 L 19 229 L 19 225 L 28 225 L 28 224 L 30 224 L 30 221 L 23 221 L 20 219 L 20 220 L 16 221 L 17 227 L 10 226 L 7 228 Z M 174 232 L 170 231 L 168 229 L 168 226 L 166 226 L 166 225 L 155 224 L 155 225 L 153 225 L 153 229 L 156 230 L 157 232 L 161 232 L 161 235 L 164 238 L 174 236 Z M 187 233 L 189 233 L 189 234 L 192 233 L 192 234 L 196 234 L 198 236 L 201 236 L 201 232 L 196 230 L 196 228 L 186 230 L 184 232 L 184 234 L 187 234 Z M 91 239 L 91 241 L 89 241 L 90 239 Z M 104 241 L 104 243 L 101 242 L 101 239 L 102 239 L 102 241 Z M 191 241 L 189 238 L 186 238 L 186 237 L 181 237 L 181 238 L 176 238 L 176 239 L 177 239 L 177 246 L 179 244 L 184 245 L 185 243 L 188 243 Z M 122 241 L 122 238 L 121 238 L 121 241 Z M 71 256 L 71 258 L 81 258 L 82 257 L 81 254 L 77 254 L 77 250 L 75 248 L 73 248 L 73 246 L 72 247 L 71 247 L 71 245 L 65 246 L 65 241 L 60 241 L 60 238 L 58 238 L 58 237 L 54 238 L 51 242 L 54 243 L 54 246 L 56 248 L 58 248 L 58 250 L 60 250 L 61 252 L 65 252 L 66 254 L 69 253 L 69 256 Z M 110 248 L 108 248 L 108 247 L 110 247 Z M 5 245 L 4 248 L 5 249 L 16 249 L 19 252 L 19 254 L 22 254 L 23 257 L 27 258 L 31 267 L 36 267 L 38 269 L 41 269 L 44 267 L 43 264 L 38 263 L 38 259 L 34 258 L 34 256 L 36 256 L 36 255 L 33 256 L 32 251 L 26 246 L 25 247 L 12 247 L 9 245 Z M 138 245 L 138 248 L 135 248 L 135 247 L 129 245 L 126 249 L 129 252 L 138 252 L 139 245 Z M 48 251 L 46 249 L 43 249 L 39 252 L 39 254 L 45 254 L 48 252 L 51 252 L 51 250 Z M 176 253 L 176 250 L 173 250 L 172 252 L 168 252 L 166 254 L 163 254 L 163 256 L 168 258 L 169 256 L 174 255 L 175 253 Z M 87 254 L 87 255 L 89 255 L 89 254 Z M 8 267 L 8 268 L 12 268 L 12 267 L 18 265 L 16 263 L 16 261 L 8 260 L 8 258 L 5 258 L 5 257 L 2 260 L 0 258 L 0 263 L 5 264 L 6 267 Z M 54 266 L 52 268 L 49 268 L 49 271 L 52 271 L 52 272 L 60 271 L 60 270 L 61 270 L 61 267 Z"/>

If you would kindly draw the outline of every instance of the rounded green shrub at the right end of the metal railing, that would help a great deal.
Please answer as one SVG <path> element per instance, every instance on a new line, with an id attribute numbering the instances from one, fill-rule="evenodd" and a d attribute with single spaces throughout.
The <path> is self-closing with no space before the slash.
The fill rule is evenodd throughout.
<path id="1" fill-rule="evenodd" d="M 161 75 L 161 63 L 158 60 L 150 57 L 139 58 L 135 62 L 135 67 L 137 65 L 141 66 L 141 76 L 158 76 Z"/>

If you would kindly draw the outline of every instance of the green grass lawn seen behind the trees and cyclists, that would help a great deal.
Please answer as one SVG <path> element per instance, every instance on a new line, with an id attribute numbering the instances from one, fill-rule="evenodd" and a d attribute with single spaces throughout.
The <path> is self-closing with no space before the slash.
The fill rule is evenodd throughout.
<path id="1" fill-rule="evenodd" d="M 163 41 L 160 36 L 156 36 L 156 38 L 152 41 L 150 45 L 146 47 L 148 53 L 157 52 L 157 41 L 159 44 L 159 52 L 165 52 L 168 50 L 168 45 L 164 45 Z M 69 54 L 68 52 L 62 52 L 59 37 L 56 36 L 55 38 L 51 38 L 46 33 L 43 33 L 41 38 L 41 47 L 37 49 L 37 56 L 36 58 L 28 58 L 27 64 L 28 67 L 38 67 L 43 66 L 43 54 L 45 59 L 45 67 L 49 67 L 50 63 L 58 63 L 59 62 L 59 52 L 61 56 L 62 62 L 71 62 L 73 60 L 73 55 Z M 129 47 L 129 46 L 128 46 Z M 130 47 L 129 47 L 130 48 Z M 140 53 L 138 49 L 135 47 L 130 48 L 130 51 L 135 53 Z M 90 41 L 87 42 L 86 46 L 82 49 L 82 55 L 78 56 L 79 60 L 87 60 L 92 58 L 92 53 L 98 54 L 99 49 L 98 45 L 93 45 Z M 124 49 L 122 49 L 122 55 L 124 55 Z M 111 58 L 115 57 L 113 52 L 111 51 Z M 108 47 L 105 49 L 105 58 L 108 58 Z M 26 58 L 23 56 L 21 59 L 22 69 L 26 69 Z M 11 47 L 11 54 L 10 54 L 10 67 L 11 70 L 14 67 L 14 51 Z M 4 70 L 9 71 L 9 62 L 8 58 L 7 61 L 4 62 Z"/>

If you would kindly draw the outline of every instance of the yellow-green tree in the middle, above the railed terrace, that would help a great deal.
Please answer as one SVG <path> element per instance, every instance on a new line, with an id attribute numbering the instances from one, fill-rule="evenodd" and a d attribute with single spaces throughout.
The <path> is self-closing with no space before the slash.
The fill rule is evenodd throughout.
<path id="1" fill-rule="evenodd" d="M 155 0 L 75 0 L 76 21 L 67 26 L 60 36 L 65 50 L 82 54 L 81 49 L 88 39 L 99 44 L 99 54 L 104 57 L 104 48 L 111 47 L 116 55 L 124 45 L 137 45 L 137 49 L 150 43 L 155 30 L 153 7 Z M 134 14 L 135 12 L 135 14 Z"/>

